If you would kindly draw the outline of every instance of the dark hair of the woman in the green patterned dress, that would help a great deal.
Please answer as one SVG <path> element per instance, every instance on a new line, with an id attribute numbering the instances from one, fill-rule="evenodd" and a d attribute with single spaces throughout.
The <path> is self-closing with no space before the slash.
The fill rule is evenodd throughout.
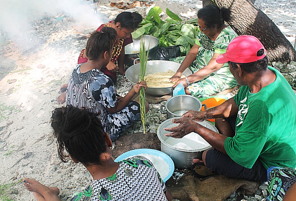
<path id="1" fill-rule="evenodd" d="M 229 22 L 230 20 L 230 10 L 224 7 L 220 9 L 215 5 L 206 5 L 198 10 L 197 17 L 204 21 L 208 28 L 217 27 L 217 29 L 221 29 L 224 21 Z"/>

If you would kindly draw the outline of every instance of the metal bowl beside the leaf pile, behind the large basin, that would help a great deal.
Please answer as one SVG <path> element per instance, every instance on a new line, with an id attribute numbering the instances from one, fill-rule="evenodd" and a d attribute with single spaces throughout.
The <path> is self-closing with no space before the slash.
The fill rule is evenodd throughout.
<path id="1" fill-rule="evenodd" d="M 132 43 L 126 45 L 124 47 L 125 56 L 124 56 L 124 64 L 126 66 L 132 66 L 134 63 L 134 60 L 139 58 L 139 50 L 140 50 L 140 41 L 143 39 L 146 51 L 149 47 L 149 54 L 148 54 L 148 60 L 152 60 L 155 58 L 156 55 L 156 49 L 159 44 L 159 39 L 157 37 L 154 37 L 152 35 L 142 35 L 138 38 L 133 38 Z"/>

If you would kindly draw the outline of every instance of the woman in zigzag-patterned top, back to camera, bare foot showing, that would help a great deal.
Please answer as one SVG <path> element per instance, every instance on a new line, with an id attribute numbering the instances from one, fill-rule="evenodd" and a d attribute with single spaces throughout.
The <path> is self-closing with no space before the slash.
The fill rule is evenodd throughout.
<path id="1" fill-rule="evenodd" d="M 113 161 L 112 141 L 97 115 L 70 105 L 56 108 L 51 116 L 60 159 L 80 162 L 94 179 L 71 201 L 171 201 L 171 193 L 148 159 Z M 56 187 L 31 179 L 24 179 L 24 185 L 37 201 L 61 201 Z"/>

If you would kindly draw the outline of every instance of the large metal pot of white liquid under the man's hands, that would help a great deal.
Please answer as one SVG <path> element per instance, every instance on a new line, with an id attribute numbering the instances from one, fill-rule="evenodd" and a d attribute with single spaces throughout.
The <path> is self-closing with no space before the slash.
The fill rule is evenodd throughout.
<path id="1" fill-rule="evenodd" d="M 179 117 L 177 117 L 179 118 Z M 163 130 L 164 128 L 172 128 L 177 126 L 178 124 L 173 124 L 172 123 L 172 119 L 176 119 L 176 118 L 171 118 L 168 119 L 164 122 L 162 122 L 157 129 L 157 137 L 160 140 L 161 143 L 161 151 L 166 153 L 167 155 L 169 155 L 175 164 L 175 167 L 177 168 L 190 168 L 192 163 L 193 163 L 193 159 L 202 158 L 202 152 L 204 150 L 210 149 L 212 146 L 206 142 L 201 136 L 199 136 L 201 139 L 199 139 L 199 141 L 202 141 L 202 145 L 201 148 L 199 149 L 192 149 L 192 150 L 188 150 L 188 149 L 181 149 L 181 148 L 176 148 L 175 146 L 172 146 L 168 143 L 166 143 L 166 140 L 169 138 L 167 136 L 164 136 L 165 134 L 168 134 L 169 132 Z M 198 122 L 199 124 L 201 124 L 202 126 L 211 129 L 214 132 L 218 132 L 217 128 L 214 127 L 212 124 L 208 123 L 207 121 L 203 121 L 203 122 Z M 181 140 L 181 139 L 176 139 L 176 140 Z"/>

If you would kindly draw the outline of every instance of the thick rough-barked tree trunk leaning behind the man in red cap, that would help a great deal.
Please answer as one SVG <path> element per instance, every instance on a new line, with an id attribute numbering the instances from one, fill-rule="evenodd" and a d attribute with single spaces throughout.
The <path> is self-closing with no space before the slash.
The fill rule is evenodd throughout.
<path id="1" fill-rule="evenodd" d="M 296 60 L 296 51 L 289 40 L 272 20 L 248 0 L 203 0 L 203 6 L 207 4 L 229 8 L 232 18 L 228 23 L 230 27 L 238 35 L 256 36 L 266 48 L 269 61 Z"/>

